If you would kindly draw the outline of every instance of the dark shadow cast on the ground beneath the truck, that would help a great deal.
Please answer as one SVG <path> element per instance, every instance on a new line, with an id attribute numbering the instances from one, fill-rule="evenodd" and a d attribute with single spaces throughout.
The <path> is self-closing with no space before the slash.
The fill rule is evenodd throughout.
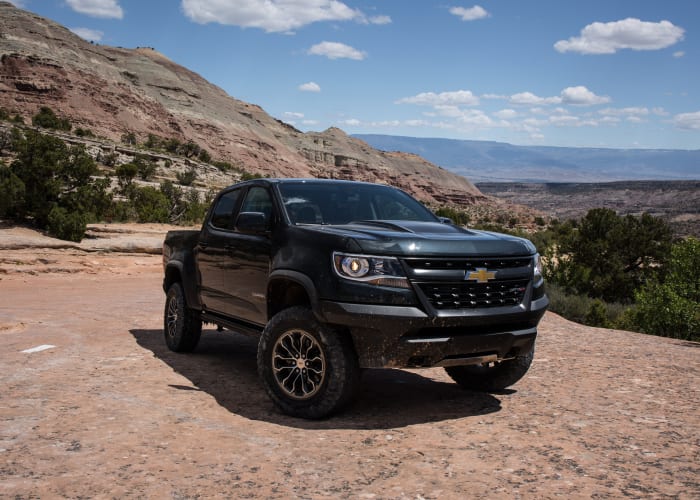
<path id="1" fill-rule="evenodd" d="M 325 420 L 297 419 L 279 413 L 267 397 L 257 374 L 256 339 L 204 330 L 195 352 L 179 354 L 165 346 L 162 330 L 130 332 L 139 346 L 192 383 L 170 385 L 173 391 L 204 391 L 228 411 L 252 420 L 301 429 L 390 429 L 501 409 L 500 400 L 491 394 L 428 378 L 436 373 L 433 370 L 426 370 L 423 376 L 378 369 L 364 371 L 356 401 L 342 413 Z"/>

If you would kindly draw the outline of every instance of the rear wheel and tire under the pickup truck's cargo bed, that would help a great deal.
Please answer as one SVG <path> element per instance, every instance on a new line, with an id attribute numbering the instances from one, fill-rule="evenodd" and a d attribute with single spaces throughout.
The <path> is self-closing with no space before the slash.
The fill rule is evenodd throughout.
<path id="1" fill-rule="evenodd" d="M 187 307 L 180 283 L 173 283 L 165 298 L 163 335 L 171 351 L 191 352 L 202 336 L 202 318 L 199 311 Z"/>

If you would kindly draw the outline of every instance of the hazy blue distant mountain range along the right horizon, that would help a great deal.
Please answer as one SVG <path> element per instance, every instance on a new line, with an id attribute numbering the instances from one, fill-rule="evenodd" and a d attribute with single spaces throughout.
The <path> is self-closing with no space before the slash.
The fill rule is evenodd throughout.
<path id="1" fill-rule="evenodd" d="M 472 182 L 700 179 L 700 149 L 564 148 L 373 134 L 353 137 L 383 151 L 420 155 Z"/>

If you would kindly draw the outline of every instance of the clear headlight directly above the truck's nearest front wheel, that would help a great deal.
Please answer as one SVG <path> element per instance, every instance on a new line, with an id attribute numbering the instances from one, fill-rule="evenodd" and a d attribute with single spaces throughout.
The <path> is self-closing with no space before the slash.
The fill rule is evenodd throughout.
<path id="1" fill-rule="evenodd" d="M 333 252 L 333 269 L 341 278 L 378 286 L 411 288 L 395 257 L 375 257 Z"/>

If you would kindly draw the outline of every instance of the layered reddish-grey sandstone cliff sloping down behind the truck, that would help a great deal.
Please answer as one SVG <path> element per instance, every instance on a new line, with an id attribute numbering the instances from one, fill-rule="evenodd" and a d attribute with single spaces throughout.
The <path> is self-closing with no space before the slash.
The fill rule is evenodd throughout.
<path id="1" fill-rule="evenodd" d="M 49 106 L 115 142 L 126 132 L 192 140 L 251 172 L 389 183 L 428 203 L 486 200 L 418 156 L 378 151 L 335 128 L 302 133 L 154 49 L 91 44 L 8 2 L 0 2 L 0 55 L 0 106 L 25 117 Z"/>

